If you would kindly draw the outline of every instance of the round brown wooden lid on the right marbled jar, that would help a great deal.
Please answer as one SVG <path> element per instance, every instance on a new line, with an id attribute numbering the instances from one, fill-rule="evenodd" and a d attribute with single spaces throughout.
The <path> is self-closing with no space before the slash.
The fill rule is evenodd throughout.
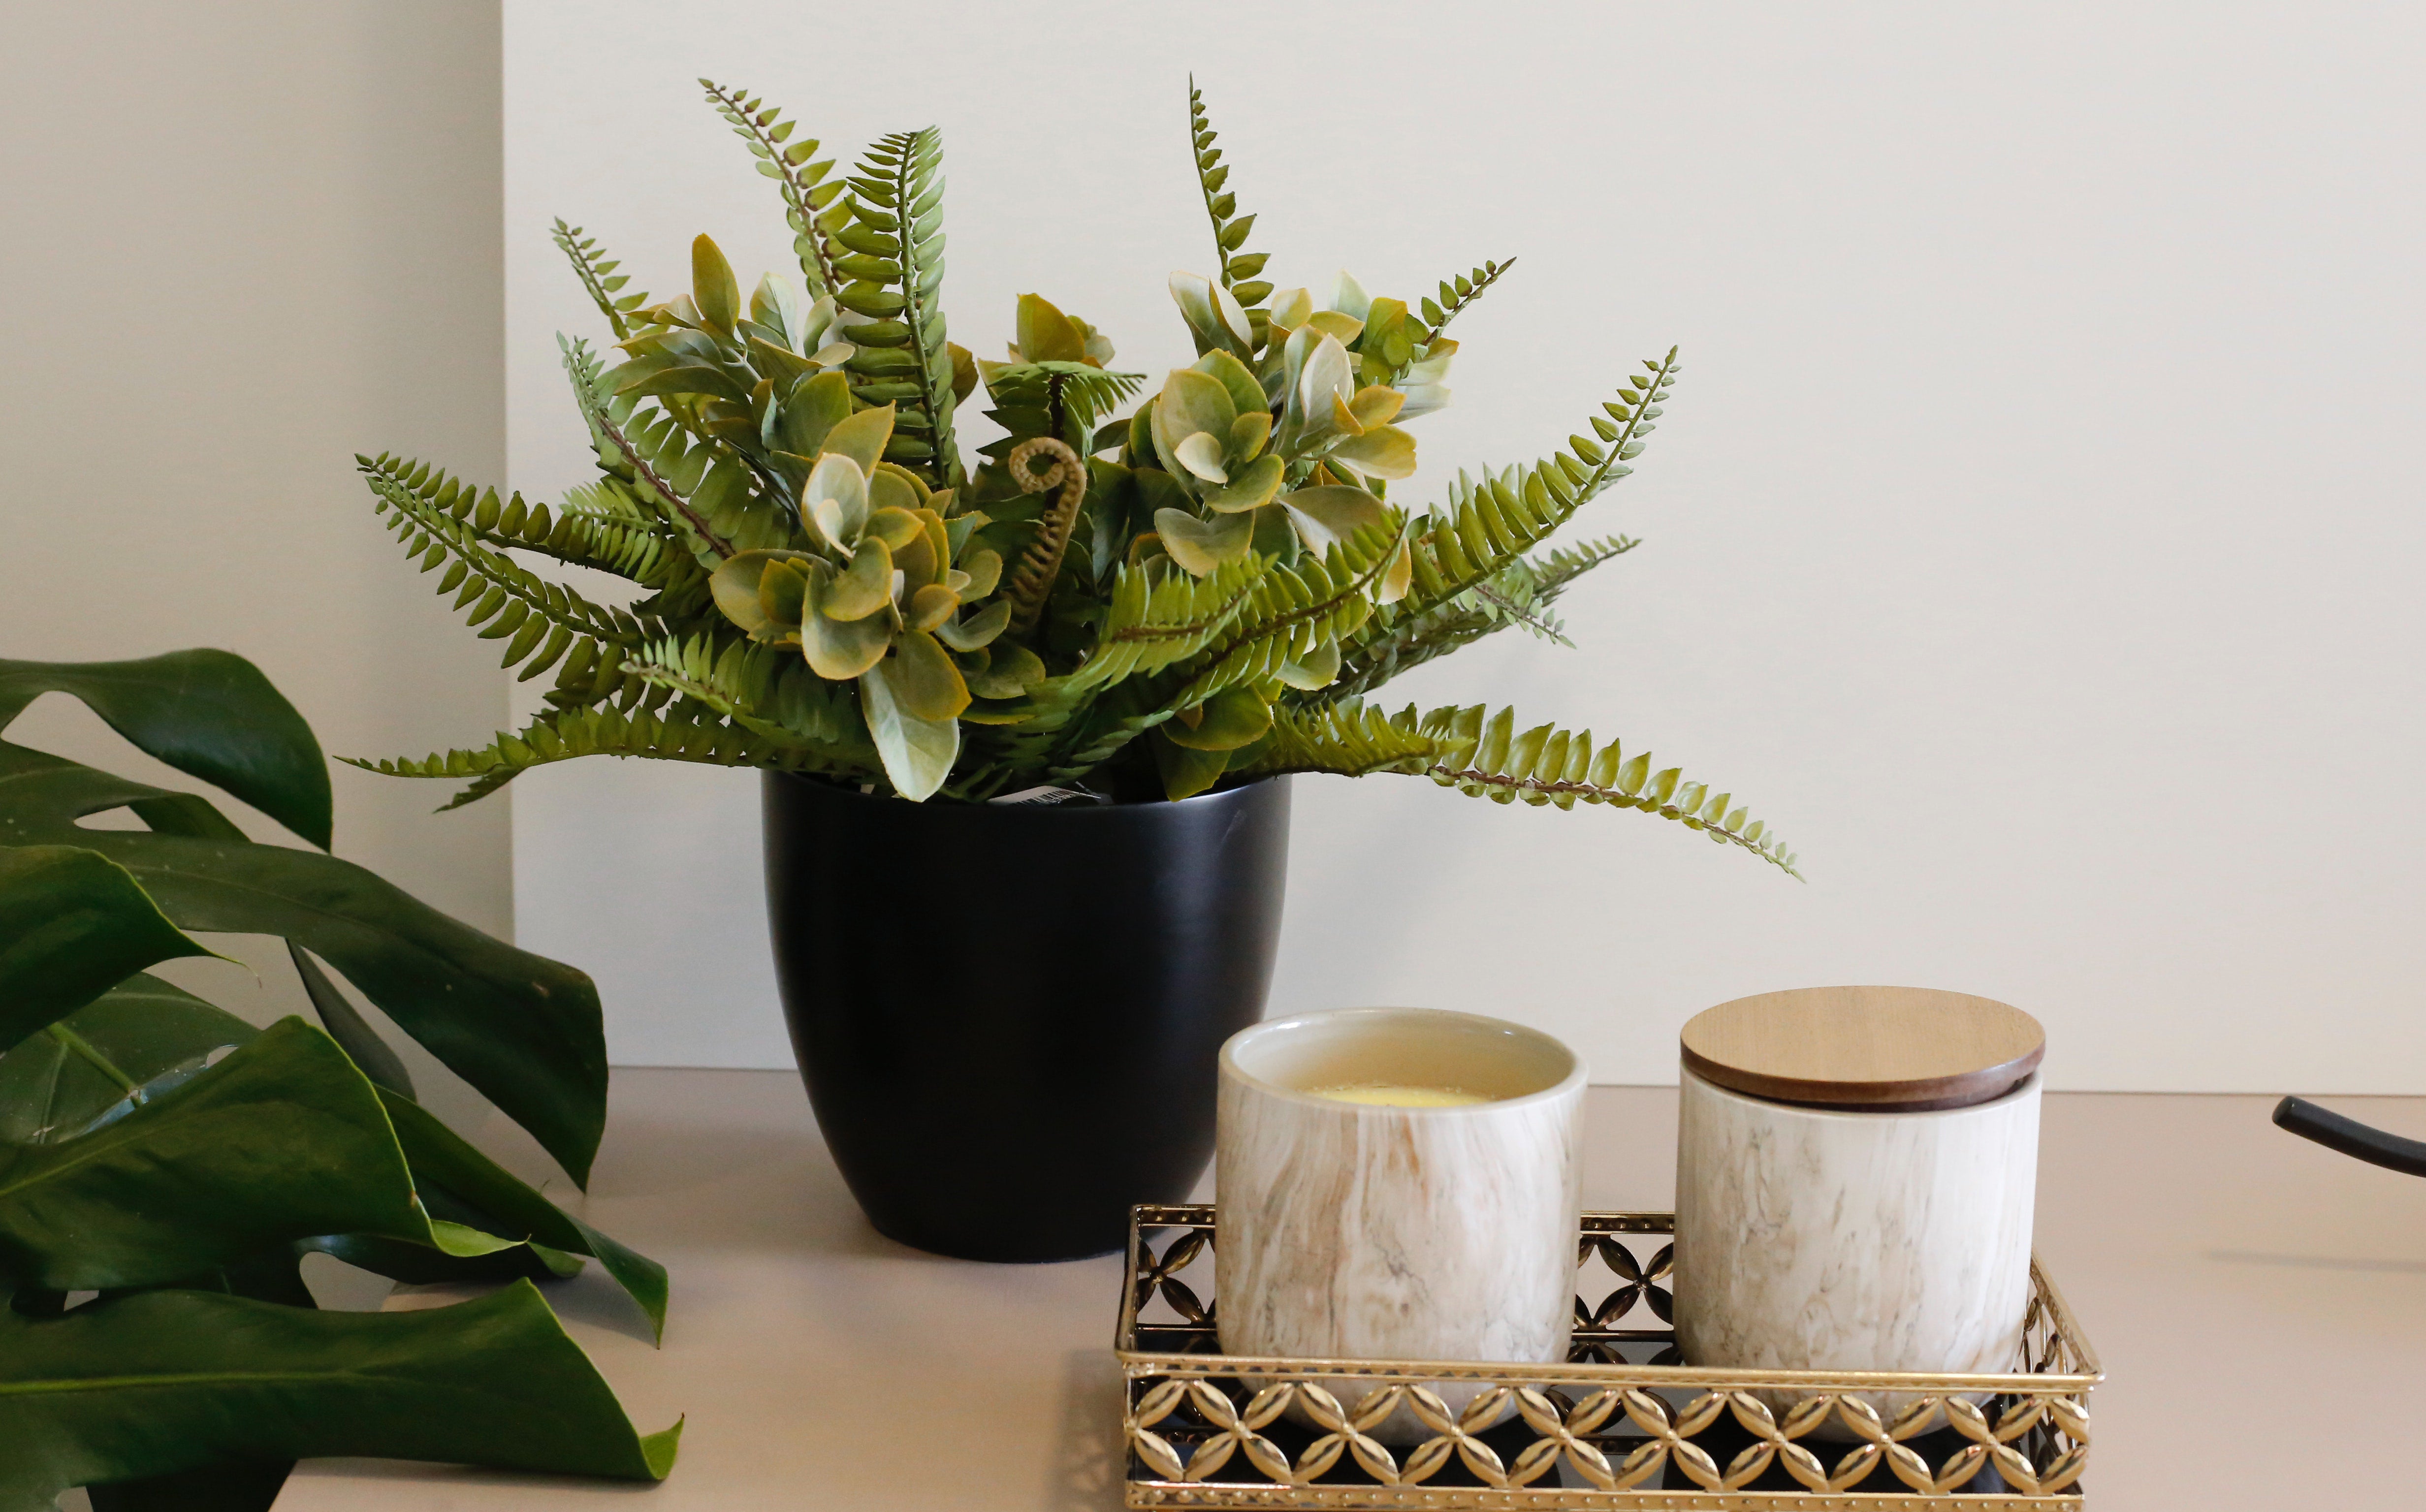
<path id="1" fill-rule="evenodd" d="M 2004 1097 L 2048 1031 L 1989 997 L 1929 988 L 1800 988 L 1693 1014 L 1684 1063 L 1732 1092 L 1805 1107 L 1929 1112 Z"/>

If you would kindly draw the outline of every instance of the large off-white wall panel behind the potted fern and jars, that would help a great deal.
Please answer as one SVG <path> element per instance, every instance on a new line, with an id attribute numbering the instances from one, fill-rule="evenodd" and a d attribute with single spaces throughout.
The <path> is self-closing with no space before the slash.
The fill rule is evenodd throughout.
<path id="1" fill-rule="evenodd" d="M 708 73 L 830 143 L 936 121 L 953 335 L 1036 289 L 1123 366 L 1189 347 L 1206 87 L 1283 284 L 1422 294 L 1458 335 L 1426 476 L 1531 459 L 1684 342 L 1647 546 L 1514 699 L 1713 777 L 1810 886 L 1674 825 L 1300 779 L 1274 1010 L 1434 1002 L 1674 1075 L 1742 993 L 2006 997 L 2067 1087 L 2416 1092 L 2426 672 L 2411 444 L 2426 19 L 2390 7 L 507 0 L 509 473 L 582 476 L 546 218 L 653 289 L 713 233 L 788 262 Z M 915 61 L 915 63 L 912 63 Z M 1393 689 L 1400 692 L 1400 689 Z M 517 786 L 524 942 L 606 985 L 621 1061 L 781 1065 L 747 774 Z"/>

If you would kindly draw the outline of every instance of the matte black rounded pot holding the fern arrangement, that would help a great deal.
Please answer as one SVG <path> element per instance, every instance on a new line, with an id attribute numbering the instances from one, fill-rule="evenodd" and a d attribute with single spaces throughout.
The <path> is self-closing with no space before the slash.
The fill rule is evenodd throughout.
<path id="1" fill-rule="evenodd" d="M 1128 1243 L 1213 1155 L 1264 1017 L 1288 779 L 1184 803 L 902 803 L 769 772 L 767 922 L 818 1126 L 885 1235 L 963 1260 Z"/>

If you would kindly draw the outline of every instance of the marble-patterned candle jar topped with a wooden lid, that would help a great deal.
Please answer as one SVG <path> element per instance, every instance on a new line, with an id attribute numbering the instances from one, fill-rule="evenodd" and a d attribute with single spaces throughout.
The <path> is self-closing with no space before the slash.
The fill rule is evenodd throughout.
<path id="1" fill-rule="evenodd" d="M 2043 1048 L 2021 1010 L 1917 988 L 1769 993 L 1686 1024 L 1686 1362 L 2016 1369 Z"/>

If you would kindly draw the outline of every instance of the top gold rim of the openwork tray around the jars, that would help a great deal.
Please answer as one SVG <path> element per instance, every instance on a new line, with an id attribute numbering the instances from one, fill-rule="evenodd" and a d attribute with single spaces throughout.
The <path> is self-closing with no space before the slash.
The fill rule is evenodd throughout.
<path id="1" fill-rule="evenodd" d="M 1393 1381 L 1507 1381 L 1524 1376 L 1536 1383 L 1589 1383 L 1606 1388 L 1710 1388 L 1710 1391 L 1912 1391 L 1924 1396 L 1946 1393 L 1997 1393 L 1997 1396 L 2086 1396 L 2106 1381 L 2089 1335 L 2055 1286 L 2038 1252 L 2031 1252 L 2031 1286 L 2048 1308 L 2050 1325 L 2072 1345 L 2082 1371 L 1773 1371 L 1742 1366 L 1693 1366 L 1693 1364 L 1524 1364 L 1487 1359 L 1305 1359 L 1286 1354 L 1177 1354 L 1138 1347 L 1138 1272 L 1145 1257 L 1147 1228 L 1213 1228 L 1218 1233 L 1215 1204 L 1135 1204 L 1128 1211 L 1128 1267 L 1121 1274 L 1121 1318 L 1114 1330 L 1111 1352 L 1121 1362 L 1121 1374 L 1131 1381 L 1143 1376 L 1366 1376 L 1378 1383 Z M 1584 1211 L 1577 1238 L 1591 1233 L 1674 1233 L 1676 1213 L 1655 1211 Z M 1215 1240 L 1218 1247 L 1218 1240 Z M 1218 1306 L 1215 1296 L 1215 1306 Z M 1941 1502 L 1943 1505 L 1943 1502 Z"/>

